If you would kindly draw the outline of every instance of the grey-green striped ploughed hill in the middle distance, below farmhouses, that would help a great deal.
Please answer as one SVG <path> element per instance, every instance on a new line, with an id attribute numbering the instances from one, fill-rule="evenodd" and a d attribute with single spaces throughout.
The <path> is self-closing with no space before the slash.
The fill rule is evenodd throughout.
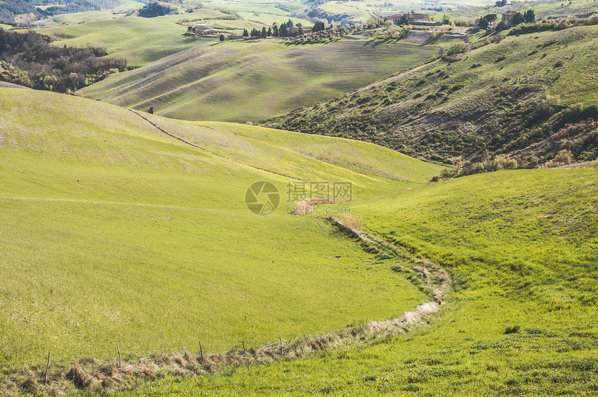
<path id="1" fill-rule="evenodd" d="M 204 44 L 108 76 L 81 93 L 143 111 L 153 106 L 170 118 L 256 121 L 407 70 L 437 51 L 360 40 Z"/>

